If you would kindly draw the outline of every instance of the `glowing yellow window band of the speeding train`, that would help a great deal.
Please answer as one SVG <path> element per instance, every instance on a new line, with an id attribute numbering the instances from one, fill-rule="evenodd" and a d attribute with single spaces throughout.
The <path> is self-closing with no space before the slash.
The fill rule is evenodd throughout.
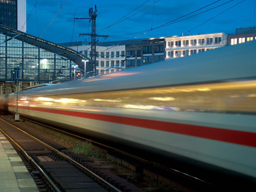
<path id="1" fill-rule="evenodd" d="M 56 105 L 256 114 L 256 80 L 39 97 Z"/>

